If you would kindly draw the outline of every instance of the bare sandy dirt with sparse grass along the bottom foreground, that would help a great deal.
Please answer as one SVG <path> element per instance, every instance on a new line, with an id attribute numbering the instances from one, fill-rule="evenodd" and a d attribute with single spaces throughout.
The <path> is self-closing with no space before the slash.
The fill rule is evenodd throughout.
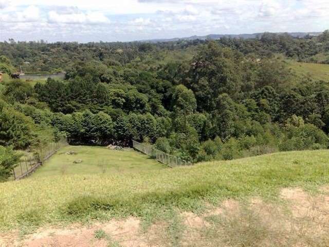
<path id="1" fill-rule="evenodd" d="M 147 227 L 137 218 L 89 226 L 41 228 L 0 235 L 0 246 L 329 246 L 329 187 L 310 196 L 285 188 L 283 202 L 227 200 L 201 215 L 178 213 Z"/>

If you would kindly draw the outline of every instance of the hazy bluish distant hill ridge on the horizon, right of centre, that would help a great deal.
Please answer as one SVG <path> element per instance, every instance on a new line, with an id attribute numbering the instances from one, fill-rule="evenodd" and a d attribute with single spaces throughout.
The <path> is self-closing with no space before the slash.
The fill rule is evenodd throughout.
<path id="1" fill-rule="evenodd" d="M 318 36 L 321 32 L 275 32 L 276 34 L 287 33 L 294 38 L 303 38 L 307 35 Z M 227 38 L 242 38 L 242 39 L 255 39 L 260 37 L 264 32 L 256 33 L 241 33 L 241 34 L 208 34 L 206 36 L 190 36 L 183 38 L 172 38 L 172 39 L 151 39 L 151 40 L 141 40 L 142 42 L 170 42 L 170 41 L 179 41 L 179 40 L 218 40 L 224 37 Z"/>

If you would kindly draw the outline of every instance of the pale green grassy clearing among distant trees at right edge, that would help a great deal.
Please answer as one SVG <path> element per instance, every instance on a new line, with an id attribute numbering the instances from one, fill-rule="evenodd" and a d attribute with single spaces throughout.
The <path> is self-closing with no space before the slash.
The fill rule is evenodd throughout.
<path id="1" fill-rule="evenodd" d="M 292 60 L 286 62 L 298 77 L 306 76 L 315 80 L 329 81 L 329 64 L 300 63 Z"/>

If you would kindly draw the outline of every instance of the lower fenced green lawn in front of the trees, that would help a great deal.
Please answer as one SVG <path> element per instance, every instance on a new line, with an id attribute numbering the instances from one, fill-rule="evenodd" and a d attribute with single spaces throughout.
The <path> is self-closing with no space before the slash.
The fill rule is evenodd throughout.
<path id="1" fill-rule="evenodd" d="M 74 151 L 76 154 L 66 154 Z M 74 161 L 82 160 L 75 164 Z M 31 178 L 72 174 L 122 174 L 169 169 L 147 155 L 132 149 L 109 150 L 106 147 L 66 146 L 54 154 Z"/>

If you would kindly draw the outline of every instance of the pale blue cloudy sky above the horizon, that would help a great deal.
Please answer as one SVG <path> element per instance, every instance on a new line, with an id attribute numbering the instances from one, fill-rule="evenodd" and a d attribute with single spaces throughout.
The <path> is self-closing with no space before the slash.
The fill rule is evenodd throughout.
<path id="1" fill-rule="evenodd" d="M 0 41 L 112 42 L 329 29 L 329 0 L 0 0 Z"/>

